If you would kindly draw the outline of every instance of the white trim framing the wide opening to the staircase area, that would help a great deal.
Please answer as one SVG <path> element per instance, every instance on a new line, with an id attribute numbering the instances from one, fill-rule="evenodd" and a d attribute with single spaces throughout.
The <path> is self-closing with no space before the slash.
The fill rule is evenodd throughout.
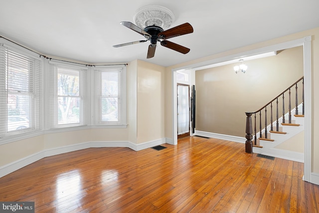
<path id="1" fill-rule="evenodd" d="M 306 103 L 308 103 L 305 106 L 305 163 L 304 163 L 304 177 L 303 180 L 311 183 L 318 183 L 318 176 L 312 174 L 312 36 L 306 36 L 303 38 L 291 40 L 291 41 L 286 41 L 283 43 L 275 44 L 275 45 L 270 45 L 270 46 L 265 46 L 241 53 L 236 53 L 236 54 L 231 54 L 225 57 L 220 57 L 220 58 L 214 58 L 211 60 L 207 60 L 204 62 L 199 62 L 199 63 L 194 63 L 186 66 L 181 66 L 181 67 L 176 67 L 172 69 L 172 88 L 173 88 L 173 93 L 176 94 L 176 83 L 177 83 L 177 77 L 176 73 L 179 70 L 200 70 L 200 69 L 205 69 L 205 68 L 210 68 L 213 66 L 216 66 L 217 64 L 225 64 L 225 61 L 228 60 L 234 60 L 241 58 L 243 56 L 252 56 L 256 54 L 261 54 L 269 51 L 278 51 L 282 49 L 287 49 L 291 47 L 296 47 L 296 46 L 303 46 L 304 47 L 304 78 L 305 78 L 305 97 L 304 100 Z M 177 100 L 176 96 L 173 95 L 173 103 L 172 103 L 172 113 L 173 113 L 173 129 L 172 132 L 176 133 L 177 132 L 177 119 L 176 119 L 176 114 L 177 114 Z M 173 134 L 172 135 L 172 142 L 171 144 L 177 145 L 177 135 Z M 244 143 L 244 140 L 243 142 Z"/>

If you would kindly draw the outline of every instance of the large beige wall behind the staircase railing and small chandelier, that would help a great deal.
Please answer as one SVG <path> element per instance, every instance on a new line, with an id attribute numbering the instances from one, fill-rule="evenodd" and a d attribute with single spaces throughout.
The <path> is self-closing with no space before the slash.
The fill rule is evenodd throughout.
<path id="1" fill-rule="evenodd" d="M 248 66 L 245 74 L 236 74 L 233 69 L 235 64 L 196 71 L 196 130 L 245 137 L 245 112 L 259 110 L 304 75 L 303 47 L 286 49 L 275 56 L 245 61 Z M 292 92 L 295 94 L 295 90 Z M 301 98 L 302 91 L 299 94 Z M 286 112 L 288 100 L 287 94 Z M 273 104 L 275 106 L 276 102 Z M 279 110 L 281 117 L 281 103 Z M 274 108 L 273 118 L 276 116 L 275 112 Z M 264 117 L 264 111 L 262 113 Z M 267 121 L 270 124 L 270 107 L 268 115 Z M 264 123 L 263 120 L 262 129 L 265 128 Z M 258 121 L 257 124 L 259 125 Z"/>

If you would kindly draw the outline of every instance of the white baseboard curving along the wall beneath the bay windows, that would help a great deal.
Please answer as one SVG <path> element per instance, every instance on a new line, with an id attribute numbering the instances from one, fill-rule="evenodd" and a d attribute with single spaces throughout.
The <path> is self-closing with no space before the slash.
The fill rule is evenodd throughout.
<path id="1" fill-rule="evenodd" d="M 10 174 L 11 172 L 21 169 L 29 164 L 32 164 L 38 160 L 41 160 L 42 158 L 53 156 L 53 155 L 59 155 L 59 154 L 73 152 L 77 150 L 82 150 L 87 148 L 98 148 L 98 147 L 101 147 L 101 148 L 102 147 L 126 147 L 134 151 L 140 151 L 143 149 L 148 149 L 154 146 L 165 144 L 166 141 L 170 142 L 171 140 L 163 138 L 163 139 L 149 141 L 149 142 L 141 143 L 141 144 L 134 144 L 129 141 L 91 141 L 91 142 L 85 142 L 80 144 L 74 144 L 70 146 L 43 150 L 41 152 L 29 155 L 27 157 L 24 157 L 22 159 L 19 159 L 17 161 L 11 162 L 7 165 L 0 167 L 0 178 Z"/>

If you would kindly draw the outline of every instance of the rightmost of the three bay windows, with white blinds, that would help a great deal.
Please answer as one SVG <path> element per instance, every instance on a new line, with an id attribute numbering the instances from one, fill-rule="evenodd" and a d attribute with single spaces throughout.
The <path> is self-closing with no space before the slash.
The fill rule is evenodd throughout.
<path id="1" fill-rule="evenodd" d="M 94 125 L 125 124 L 125 69 L 95 68 Z"/>

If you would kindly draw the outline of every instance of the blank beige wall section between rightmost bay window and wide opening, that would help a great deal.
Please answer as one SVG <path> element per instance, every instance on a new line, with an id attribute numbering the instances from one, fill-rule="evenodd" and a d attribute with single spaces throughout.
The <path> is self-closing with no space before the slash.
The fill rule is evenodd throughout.
<path id="1" fill-rule="evenodd" d="M 137 143 L 164 138 L 164 70 L 138 61 Z"/>

